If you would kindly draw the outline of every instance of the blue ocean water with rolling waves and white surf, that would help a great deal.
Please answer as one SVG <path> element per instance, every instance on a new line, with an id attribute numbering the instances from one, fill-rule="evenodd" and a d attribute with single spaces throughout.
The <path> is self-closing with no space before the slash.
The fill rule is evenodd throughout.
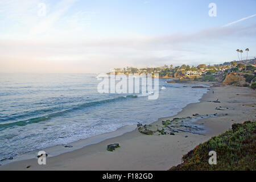
<path id="1" fill-rule="evenodd" d="M 97 75 L 1 73 L 0 160 L 149 124 L 199 102 L 207 92 L 167 81 L 159 79 L 159 98 L 148 100 L 141 93 L 98 93 Z"/>

